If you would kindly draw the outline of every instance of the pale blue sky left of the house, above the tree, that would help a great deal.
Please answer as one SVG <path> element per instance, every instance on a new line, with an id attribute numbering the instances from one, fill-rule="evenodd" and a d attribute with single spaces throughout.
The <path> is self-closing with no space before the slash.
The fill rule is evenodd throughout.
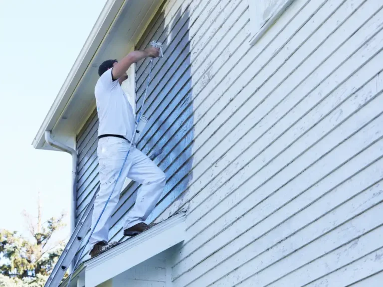
<path id="1" fill-rule="evenodd" d="M 71 156 L 31 143 L 105 2 L 0 0 L 0 229 L 28 237 L 40 193 L 42 218 L 65 212 L 70 235 Z"/>

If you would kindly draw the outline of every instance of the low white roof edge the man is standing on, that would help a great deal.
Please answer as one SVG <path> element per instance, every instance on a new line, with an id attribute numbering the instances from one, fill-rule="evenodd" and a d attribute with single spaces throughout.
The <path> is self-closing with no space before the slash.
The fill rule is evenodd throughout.
<path id="1" fill-rule="evenodd" d="M 183 242 L 186 239 L 185 216 L 185 212 L 176 214 L 144 233 L 84 262 L 75 271 L 71 286 L 98 286 Z M 66 286 L 67 280 L 61 286 Z"/>

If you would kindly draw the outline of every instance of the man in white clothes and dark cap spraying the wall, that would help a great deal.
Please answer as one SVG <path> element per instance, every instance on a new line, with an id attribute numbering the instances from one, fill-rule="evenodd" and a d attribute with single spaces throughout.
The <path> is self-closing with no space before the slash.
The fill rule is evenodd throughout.
<path id="1" fill-rule="evenodd" d="M 129 67 L 146 57 L 158 57 L 158 48 L 133 51 L 120 62 L 107 60 L 99 69 L 100 76 L 94 93 L 99 118 L 97 156 L 99 160 L 100 190 L 94 202 L 92 228 L 95 226 L 105 203 L 113 190 L 92 237 L 90 238 L 90 256 L 93 258 L 108 246 L 109 219 L 116 207 L 125 178 L 129 177 L 142 184 L 137 193 L 136 203 L 128 213 L 124 224 L 124 235 L 134 236 L 148 229 L 144 223 L 156 206 L 164 189 L 165 173 L 148 156 L 138 150 L 134 144 L 123 167 L 129 149 L 130 140 L 135 133 L 135 119 L 132 106 L 121 88 L 128 76 Z"/>

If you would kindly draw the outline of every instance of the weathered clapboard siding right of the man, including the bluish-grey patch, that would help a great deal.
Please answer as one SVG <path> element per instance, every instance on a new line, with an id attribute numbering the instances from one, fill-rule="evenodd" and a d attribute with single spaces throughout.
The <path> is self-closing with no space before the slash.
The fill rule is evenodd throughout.
<path id="1" fill-rule="evenodd" d="M 189 207 L 174 285 L 377 284 L 383 2 L 296 0 L 253 47 L 246 0 L 168 6 L 171 29 L 155 24 L 139 45 L 173 45 L 140 146 L 164 148 L 154 216 Z M 176 34 L 185 17 L 189 39 Z M 147 72 L 137 65 L 139 103 Z"/>

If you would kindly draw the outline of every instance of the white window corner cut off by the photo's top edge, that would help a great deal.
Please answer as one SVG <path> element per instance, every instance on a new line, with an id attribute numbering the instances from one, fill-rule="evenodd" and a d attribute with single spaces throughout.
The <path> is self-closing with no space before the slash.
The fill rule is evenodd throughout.
<path id="1" fill-rule="evenodd" d="M 248 0 L 254 45 L 294 0 Z"/>

